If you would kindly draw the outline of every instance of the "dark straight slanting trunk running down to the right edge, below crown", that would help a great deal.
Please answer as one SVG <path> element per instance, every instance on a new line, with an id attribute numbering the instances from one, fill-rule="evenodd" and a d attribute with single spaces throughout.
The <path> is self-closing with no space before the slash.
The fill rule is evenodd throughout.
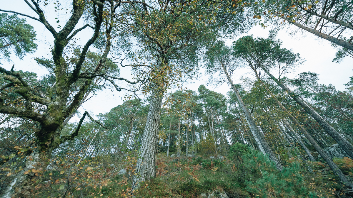
<path id="1" fill-rule="evenodd" d="M 322 128 L 340 145 L 340 147 L 346 151 L 349 157 L 353 158 L 353 147 L 345 138 L 343 138 L 329 123 L 326 122 L 311 106 L 305 103 L 305 101 L 299 98 L 295 93 L 293 93 L 288 87 L 283 85 L 279 80 L 275 78 L 268 70 L 264 67 L 261 67 L 267 75 L 273 79 L 277 85 L 279 85 L 284 91 L 286 91 L 303 109 L 311 115 L 312 118 L 318 122 Z"/>

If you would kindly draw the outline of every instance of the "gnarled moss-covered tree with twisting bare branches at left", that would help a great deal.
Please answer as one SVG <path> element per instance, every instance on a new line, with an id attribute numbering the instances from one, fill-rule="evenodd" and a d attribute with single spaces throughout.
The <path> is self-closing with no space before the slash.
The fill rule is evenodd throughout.
<path id="1" fill-rule="evenodd" d="M 14 193 L 17 193 L 17 196 L 20 197 L 30 193 L 28 189 L 32 185 L 33 181 L 31 181 L 31 179 L 35 177 L 35 174 L 24 173 L 26 171 L 29 172 L 29 170 L 33 169 L 34 166 L 37 166 L 37 163 L 44 163 L 44 160 L 47 157 L 50 158 L 50 154 L 53 149 L 58 148 L 61 143 L 66 140 L 73 139 L 77 135 L 78 131 L 75 131 L 71 135 L 60 137 L 60 131 L 62 129 L 62 123 L 73 111 L 76 110 L 77 105 L 82 100 L 84 93 L 88 89 L 94 77 L 92 75 L 83 75 L 80 71 L 90 45 L 94 43 L 99 36 L 100 27 L 103 22 L 103 2 L 104 0 L 93 0 L 89 4 L 84 4 L 82 1 L 73 0 L 71 18 L 68 19 L 67 23 L 60 31 L 56 31 L 55 28 L 49 24 L 41 5 L 38 2 L 32 1 L 32 4 L 27 2 L 31 10 L 38 15 L 38 18 L 30 18 L 40 21 L 54 37 L 52 58 L 55 64 L 55 83 L 51 87 L 47 87 L 46 95 L 37 95 L 30 88 L 28 82 L 24 81 L 21 75 L 14 70 L 14 67 L 12 67 L 11 70 L 6 70 L 2 67 L 0 68 L 0 72 L 3 74 L 2 78 L 9 81 L 5 86 L 1 87 L 2 93 L 0 95 L 0 112 L 16 115 L 21 118 L 32 119 L 38 122 L 38 127 L 35 129 L 35 146 L 30 149 L 30 156 L 29 159 L 26 160 L 23 170 L 13 178 L 14 180 L 12 185 L 9 185 L 6 189 L 5 197 L 11 197 Z M 94 26 L 86 24 L 85 26 L 74 30 L 85 9 L 90 9 L 93 14 L 95 19 L 91 22 Z M 1 11 L 4 12 L 4 10 Z M 17 13 L 14 11 L 5 12 Z M 26 14 L 17 14 L 29 17 Z M 67 73 L 68 66 L 65 62 L 65 58 L 63 57 L 63 51 L 77 32 L 83 30 L 85 27 L 92 27 L 94 33 L 84 45 L 77 64 L 73 67 L 70 73 Z M 95 72 L 100 72 L 100 69 L 98 68 Z M 66 107 L 69 94 L 68 92 L 72 83 L 82 78 L 86 78 L 88 80 L 86 80 L 80 87 L 79 92 L 74 96 L 73 102 Z M 11 92 L 18 94 L 20 100 L 22 100 L 25 104 L 25 108 L 13 106 L 11 101 L 7 100 L 8 94 L 4 92 L 5 89 L 11 89 L 13 90 Z M 46 106 L 46 111 L 35 111 L 33 103 Z"/>

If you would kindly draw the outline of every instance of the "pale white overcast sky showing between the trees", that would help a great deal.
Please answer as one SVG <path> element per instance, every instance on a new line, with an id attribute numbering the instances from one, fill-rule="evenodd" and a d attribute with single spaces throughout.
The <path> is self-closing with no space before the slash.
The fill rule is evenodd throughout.
<path id="1" fill-rule="evenodd" d="M 35 13 L 22 0 L 2 0 L 0 7 L 3 10 L 12 10 L 37 17 Z M 50 15 L 46 15 L 47 20 L 53 26 L 63 26 L 65 24 L 65 19 L 69 17 L 69 13 L 66 14 L 66 12 L 67 11 L 65 11 L 65 9 L 56 13 L 52 12 L 50 13 Z M 24 18 L 22 16 L 19 17 Z M 60 22 L 56 23 L 57 19 L 55 18 L 59 18 Z M 29 18 L 26 18 L 26 20 L 27 23 L 34 26 L 35 31 L 37 31 L 37 52 L 35 54 L 29 54 L 25 56 L 24 60 L 18 60 L 18 58 L 16 57 L 13 57 L 10 63 L 4 62 L 2 60 L 1 67 L 4 67 L 5 69 L 10 69 L 12 64 L 14 63 L 16 70 L 35 72 L 38 74 L 38 76 L 42 74 L 47 74 L 47 70 L 39 67 L 34 61 L 34 58 L 50 58 L 50 45 L 53 44 L 52 35 L 38 21 Z M 82 26 L 82 24 L 83 23 L 80 23 L 78 27 Z M 270 29 L 270 26 L 265 30 L 262 29 L 259 25 L 254 26 L 248 33 L 238 35 L 234 38 L 234 40 L 227 41 L 226 44 L 231 44 L 237 38 L 245 35 L 253 35 L 254 37 L 267 38 Z M 86 28 L 84 31 L 78 33 L 76 38 L 78 39 L 78 43 L 85 43 L 91 35 L 92 31 Z M 319 83 L 325 85 L 333 84 L 336 89 L 340 91 L 344 91 L 346 89 L 343 84 L 349 81 L 350 76 L 353 76 L 353 58 L 346 57 L 345 60 L 343 60 L 341 63 L 332 62 L 332 59 L 335 57 L 336 50 L 331 47 L 331 43 L 323 39 L 317 39 L 317 37 L 311 35 L 309 32 L 304 32 L 304 35 L 302 35 L 301 33 L 297 33 L 297 35 L 289 35 L 286 30 L 280 30 L 277 38 L 279 38 L 283 42 L 282 47 L 292 49 L 294 53 L 299 53 L 300 57 L 305 59 L 303 65 L 301 65 L 293 73 L 287 75 L 289 78 L 294 78 L 295 75 L 297 75 L 298 73 L 310 71 L 320 74 Z M 200 72 L 204 72 L 202 68 L 200 69 Z M 240 69 L 237 71 L 237 77 L 239 78 L 242 75 L 251 77 L 250 75 L 246 74 L 247 72 L 250 71 L 246 69 Z M 121 76 L 124 76 L 124 78 L 128 78 L 128 76 L 131 76 L 128 68 L 124 68 L 121 70 Z M 188 89 L 197 91 L 197 88 L 200 85 L 204 84 L 208 89 L 225 95 L 227 94 L 227 92 L 229 91 L 229 87 L 226 84 L 221 86 L 207 84 L 208 79 L 209 77 L 207 75 L 202 75 L 198 79 L 193 79 L 191 83 L 183 85 L 183 87 L 187 87 Z M 235 82 L 238 83 L 240 81 L 239 79 L 235 79 Z M 99 92 L 97 96 L 85 102 L 83 106 L 79 108 L 79 111 L 90 111 L 93 112 L 94 115 L 97 115 L 99 113 L 105 113 L 113 107 L 121 104 L 121 97 L 124 96 L 124 92 L 111 92 L 110 90 L 103 90 Z M 74 122 L 76 120 L 77 118 L 72 118 L 72 120 L 70 121 Z"/>

